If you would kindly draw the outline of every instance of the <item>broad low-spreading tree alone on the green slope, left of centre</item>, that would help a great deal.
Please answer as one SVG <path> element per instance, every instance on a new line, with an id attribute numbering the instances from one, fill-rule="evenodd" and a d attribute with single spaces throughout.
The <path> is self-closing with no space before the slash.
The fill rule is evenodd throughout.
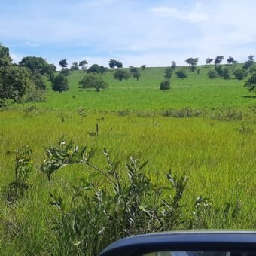
<path id="1" fill-rule="evenodd" d="M 85 75 L 81 81 L 79 81 L 79 85 L 81 88 L 96 88 L 96 91 L 99 92 L 101 89 L 105 89 L 108 87 L 108 84 L 103 81 L 102 77 L 99 75 L 89 74 Z"/>

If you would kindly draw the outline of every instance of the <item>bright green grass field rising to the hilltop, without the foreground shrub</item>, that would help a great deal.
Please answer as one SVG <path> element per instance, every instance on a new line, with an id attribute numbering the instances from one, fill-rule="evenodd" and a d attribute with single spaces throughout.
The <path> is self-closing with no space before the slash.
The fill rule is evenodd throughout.
<path id="1" fill-rule="evenodd" d="M 256 229 L 254 93 L 243 87 L 245 80 L 211 81 L 206 75 L 210 66 L 199 66 L 199 74 L 178 68 L 186 69 L 188 77 L 171 78 L 172 88 L 163 92 L 159 85 L 164 69 L 146 68 L 139 81 L 115 81 L 109 71 L 102 75 L 109 87 L 100 92 L 78 88 L 84 72 L 72 72 L 69 91 L 55 93 L 49 84 L 45 102 L 16 103 L 0 111 L 0 254 L 84 253 L 84 236 L 59 233 L 59 219 L 72 208 L 74 187 L 83 180 L 111 189 L 105 178 L 82 164 L 57 169 L 49 182 L 41 164 L 47 159 L 46 148 L 60 139 L 94 148 L 91 163 L 99 169 L 108 166 L 102 154 L 106 148 L 120 160 L 124 181 L 130 156 L 148 160 L 143 172 L 156 186 L 168 186 L 169 169 L 178 177 L 184 173 L 181 206 L 191 221 L 173 229 Z M 23 145 L 32 150 L 29 186 L 9 205 L 6 194 L 15 180 L 17 159 L 13 152 Z M 59 210 L 49 191 L 62 197 Z M 163 198 L 170 195 L 163 189 Z M 199 197 L 204 199 L 201 212 L 195 208 Z M 108 234 L 102 233 L 105 239 Z"/>

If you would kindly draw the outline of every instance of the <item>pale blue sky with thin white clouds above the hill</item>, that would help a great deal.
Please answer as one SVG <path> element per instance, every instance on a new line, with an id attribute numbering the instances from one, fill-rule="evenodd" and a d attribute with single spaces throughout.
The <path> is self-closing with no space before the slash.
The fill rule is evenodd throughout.
<path id="1" fill-rule="evenodd" d="M 0 0 L 0 42 L 14 62 L 184 65 L 256 55 L 255 0 Z"/>

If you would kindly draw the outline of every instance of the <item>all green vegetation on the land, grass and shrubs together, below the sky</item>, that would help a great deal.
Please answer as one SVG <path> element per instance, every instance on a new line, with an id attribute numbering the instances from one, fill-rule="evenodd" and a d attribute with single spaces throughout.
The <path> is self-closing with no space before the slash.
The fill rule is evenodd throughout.
<path id="1" fill-rule="evenodd" d="M 256 228 L 254 64 L 200 66 L 166 90 L 166 68 L 136 81 L 74 63 L 42 75 L 0 47 L 0 254 L 93 255 L 139 233 Z M 57 78 L 68 92 L 50 90 Z"/>

